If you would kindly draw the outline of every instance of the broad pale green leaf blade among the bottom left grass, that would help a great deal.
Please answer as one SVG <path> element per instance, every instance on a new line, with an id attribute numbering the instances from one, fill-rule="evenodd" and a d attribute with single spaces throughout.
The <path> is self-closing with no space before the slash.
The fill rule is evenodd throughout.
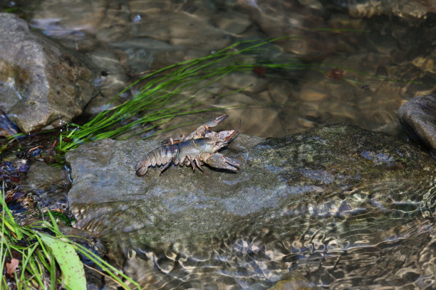
<path id="1" fill-rule="evenodd" d="M 41 240 L 51 249 L 53 255 L 61 267 L 63 283 L 67 289 L 85 290 L 86 279 L 83 264 L 74 247 L 68 242 L 56 239 L 51 235 L 37 232 Z"/>

